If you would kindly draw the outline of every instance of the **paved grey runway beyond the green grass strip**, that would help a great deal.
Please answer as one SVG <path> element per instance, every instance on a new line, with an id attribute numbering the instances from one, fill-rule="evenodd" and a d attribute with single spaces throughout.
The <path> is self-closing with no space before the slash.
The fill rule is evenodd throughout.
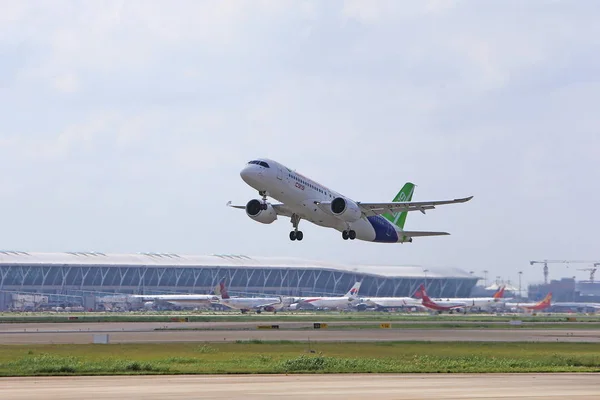
<path id="1" fill-rule="evenodd" d="M 274 321 L 273 323 L 277 323 Z M 259 323 L 260 324 L 260 323 Z M 292 325 L 296 324 L 296 326 Z M 350 324 L 345 322 L 345 325 Z M 259 330 L 257 323 L 31 323 L 0 324 L 0 344 L 85 344 L 108 333 L 111 343 L 292 341 L 493 341 L 600 343 L 598 329 L 306 329 L 306 323 Z M 298 328 L 304 327 L 304 329 Z M 201 328 L 203 330 L 168 330 Z M 167 330 L 157 330 L 167 329 Z"/>

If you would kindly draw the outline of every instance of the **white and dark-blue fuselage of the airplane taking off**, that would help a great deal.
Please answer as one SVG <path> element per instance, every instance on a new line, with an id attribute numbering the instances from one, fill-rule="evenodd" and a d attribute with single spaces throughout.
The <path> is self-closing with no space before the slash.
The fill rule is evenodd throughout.
<path id="1" fill-rule="evenodd" d="M 248 164 L 240 176 L 249 186 L 259 192 L 267 192 L 270 197 L 285 204 L 299 218 L 340 232 L 352 229 L 356 232 L 356 239 L 360 240 L 387 243 L 404 241 L 396 226 L 383 216 L 363 216 L 348 223 L 322 210 L 315 202 L 330 202 L 336 197 L 345 196 L 276 161 L 263 160 L 268 167 Z"/>

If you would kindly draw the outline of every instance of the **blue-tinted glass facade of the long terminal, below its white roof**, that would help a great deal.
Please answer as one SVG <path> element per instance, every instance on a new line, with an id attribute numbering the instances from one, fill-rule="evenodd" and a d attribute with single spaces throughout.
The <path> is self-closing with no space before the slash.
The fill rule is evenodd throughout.
<path id="1" fill-rule="evenodd" d="M 231 293 L 341 295 L 359 280 L 361 296 L 411 296 L 425 283 L 431 297 L 468 297 L 477 278 L 384 277 L 301 267 L 157 267 L 134 265 L 0 265 L 0 290 L 40 293 L 209 293 L 223 279 Z"/>

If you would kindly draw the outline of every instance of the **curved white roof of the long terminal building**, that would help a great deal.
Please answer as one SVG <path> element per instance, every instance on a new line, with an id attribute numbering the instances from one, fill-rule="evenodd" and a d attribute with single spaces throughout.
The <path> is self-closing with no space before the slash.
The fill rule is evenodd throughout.
<path id="1" fill-rule="evenodd" d="M 43 266 L 145 266 L 145 267 L 247 267 L 328 269 L 390 278 L 469 278 L 476 276 L 458 268 L 432 268 L 404 265 L 342 264 L 289 257 L 250 257 L 244 255 L 180 255 L 173 253 L 108 254 L 101 252 L 31 253 L 0 251 L 2 265 Z"/>

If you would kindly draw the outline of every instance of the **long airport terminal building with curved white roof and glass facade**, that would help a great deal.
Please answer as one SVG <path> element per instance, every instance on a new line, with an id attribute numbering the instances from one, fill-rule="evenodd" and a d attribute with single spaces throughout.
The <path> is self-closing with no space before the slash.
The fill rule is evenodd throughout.
<path id="1" fill-rule="evenodd" d="M 226 280 L 232 294 L 341 295 L 362 280 L 360 295 L 468 297 L 478 278 L 454 268 L 348 265 L 281 257 L 99 252 L 0 251 L 0 292 L 210 293 Z"/>

